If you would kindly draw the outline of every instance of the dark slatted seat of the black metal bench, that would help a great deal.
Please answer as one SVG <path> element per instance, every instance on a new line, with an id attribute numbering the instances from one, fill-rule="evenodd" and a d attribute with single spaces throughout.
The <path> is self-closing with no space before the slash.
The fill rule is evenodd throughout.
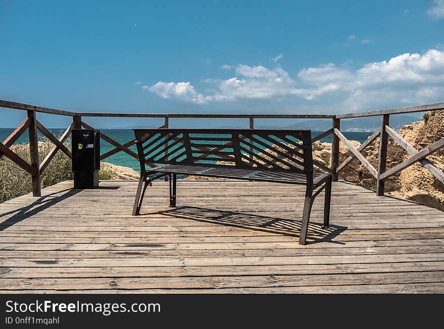
<path id="1" fill-rule="evenodd" d="M 225 167 L 225 168 L 223 168 Z M 254 168 L 254 167 L 253 167 Z M 306 185 L 307 176 L 304 174 L 268 171 L 258 169 L 227 168 L 227 166 L 204 167 L 187 165 L 164 165 L 148 169 L 147 172 L 179 175 L 196 175 L 229 179 L 243 179 L 259 182 L 274 182 L 284 184 Z M 319 186 L 330 177 L 329 174 L 313 174 L 313 185 Z"/>

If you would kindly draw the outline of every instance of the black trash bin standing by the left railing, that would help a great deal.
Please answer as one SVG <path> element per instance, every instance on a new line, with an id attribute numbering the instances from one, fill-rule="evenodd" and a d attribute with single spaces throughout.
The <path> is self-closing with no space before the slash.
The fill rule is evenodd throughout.
<path id="1" fill-rule="evenodd" d="M 99 186 L 100 133 L 96 129 L 73 129 L 72 154 L 75 189 Z"/>

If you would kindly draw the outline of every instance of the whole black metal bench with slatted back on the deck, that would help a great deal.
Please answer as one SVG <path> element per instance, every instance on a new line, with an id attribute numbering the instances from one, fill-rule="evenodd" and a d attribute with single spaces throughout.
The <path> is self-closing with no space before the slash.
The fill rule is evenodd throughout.
<path id="1" fill-rule="evenodd" d="M 140 214 L 154 179 L 169 176 L 170 206 L 175 207 L 177 175 L 196 175 L 306 185 L 301 245 L 313 201 L 325 190 L 323 225 L 328 227 L 331 175 L 313 173 L 310 130 L 134 129 L 134 134 L 140 180 L 133 215 Z"/>

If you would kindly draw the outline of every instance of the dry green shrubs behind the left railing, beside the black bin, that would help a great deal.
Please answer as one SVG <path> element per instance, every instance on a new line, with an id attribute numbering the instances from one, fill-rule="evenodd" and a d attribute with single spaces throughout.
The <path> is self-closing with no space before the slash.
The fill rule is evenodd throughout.
<path id="1" fill-rule="evenodd" d="M 70 148 L 71 142 L 65 145 Z M 54 145 L 45 140 L 38 142 L 40 162 Z M 28 163 L 30 162 L 29 144 L 14 145 L 11 149 Z M 59 150 L 41 174 L 41 188 L 73 179 L 71 159 Z M 31 192 L 31 176 L 6 156 L 0 156 L 0 202 L 4 202 Z"/>

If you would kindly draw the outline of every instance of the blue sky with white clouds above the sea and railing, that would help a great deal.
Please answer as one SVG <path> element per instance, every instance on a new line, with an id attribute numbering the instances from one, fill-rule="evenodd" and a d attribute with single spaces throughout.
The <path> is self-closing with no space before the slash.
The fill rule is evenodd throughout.
<path id="1" fill-rule="evenodd" d="M 347 113 L 438 102 L 443 32 L 442 0 L 0 0 L 0 98 L 144 113 Z M 4 127 L 23 120 L 4 113 Z"/>

